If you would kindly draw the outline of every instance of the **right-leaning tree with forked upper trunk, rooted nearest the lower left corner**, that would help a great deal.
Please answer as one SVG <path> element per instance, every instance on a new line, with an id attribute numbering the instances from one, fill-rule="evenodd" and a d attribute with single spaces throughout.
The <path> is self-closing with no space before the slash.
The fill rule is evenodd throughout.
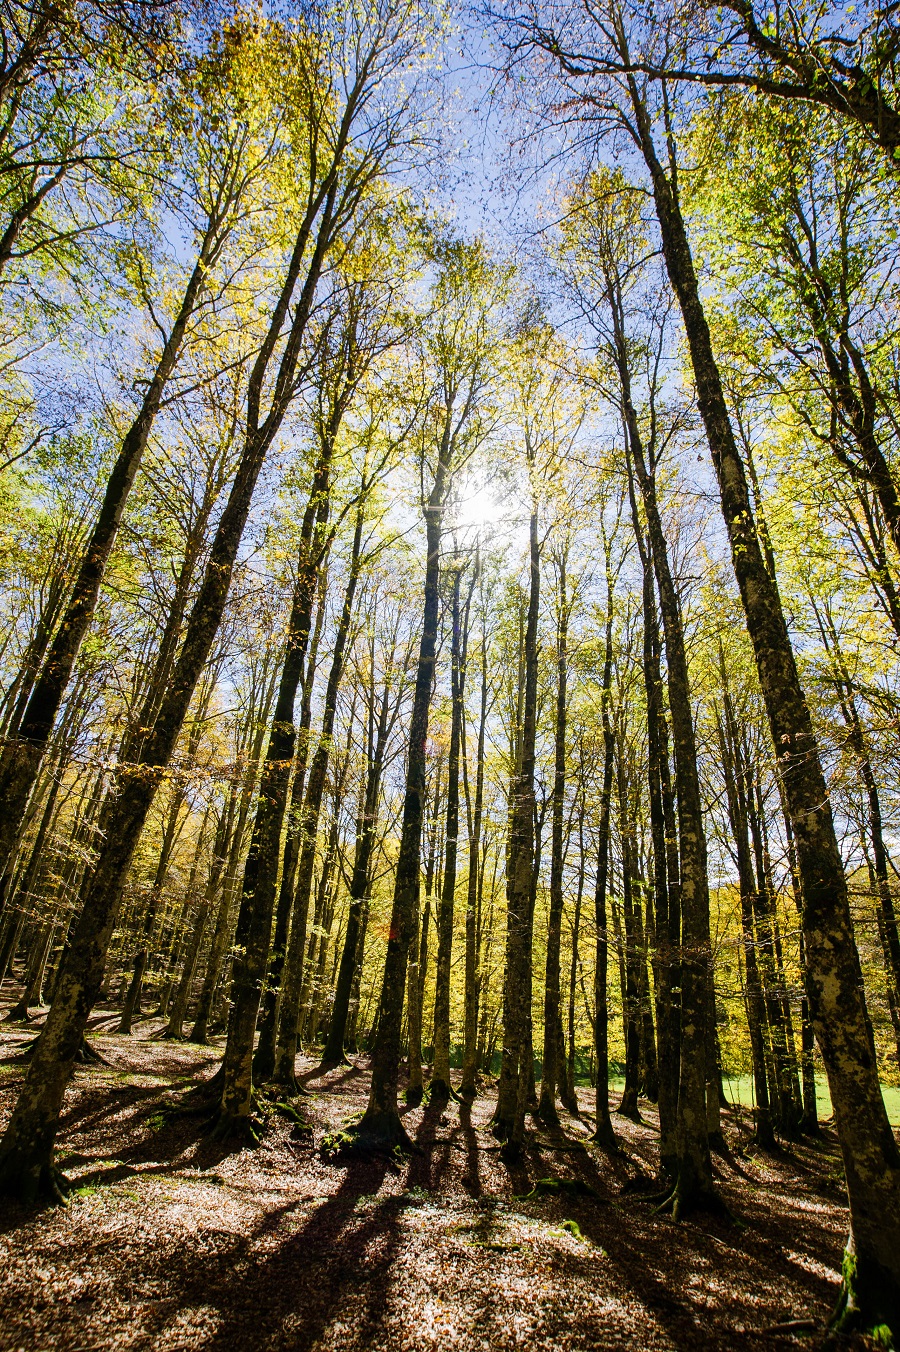
<path id="1" fill-rule="evenodd" d="M 126 875 L 222 619 L 266 452 L 296 395 L 301 343 L 326 258 L 407 134 L 408 103 L 388 118 L 370 116 L 370 103 L 378 85 L 408 62 L 416 37 L 409 9 L 388 5 L 358 26 L 349 16 L 338 34 L 327 24 L 319 32 L 304 31 L 292 49 L 299 69 L 295 96 L 304 99 L 300 127 L 308 138 L 308 177 L 282 283 L 247 381 L 242 454 L 166 698 L 141 750 L 141 771 L 132 769 L 119 788 L 57 996 L 0 1145 L 0 1183 L 7 1191 L 62 1191 L 53 1167 L 59 1107 L 100 988 Z"/>

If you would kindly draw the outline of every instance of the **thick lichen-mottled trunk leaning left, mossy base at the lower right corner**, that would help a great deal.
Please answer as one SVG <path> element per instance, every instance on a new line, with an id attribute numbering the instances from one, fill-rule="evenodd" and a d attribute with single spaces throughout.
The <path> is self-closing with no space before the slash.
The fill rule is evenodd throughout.
<path id="1" fill-rule="evenodd" d="M 886 1322 L 897 1328 L 900 1151 L 878 1083 L 828 787 L 781 599 L 759 546 L 677 193 L 657 157 L 650 116 L 636 82 L 632 77 L 628 82 L 796 844 L 809 1007 L 828 1075 L 850 1205 L 850 1241 L 836 1324 L 850 1328 Z"/>

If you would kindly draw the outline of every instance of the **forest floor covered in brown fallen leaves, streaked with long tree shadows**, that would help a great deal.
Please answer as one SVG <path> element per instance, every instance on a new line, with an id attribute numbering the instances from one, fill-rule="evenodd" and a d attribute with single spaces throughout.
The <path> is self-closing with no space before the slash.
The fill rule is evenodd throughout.
<path id="1" fill-rule="evenodd" d="M 66 1095 L 77 1191 L 66 1207 L 0 1207 L 3 1352 L 822 1345 L 847 1228 L 828 1129 L 762 1155 L 727 1114 L 715 1167 L 741 1224 L 676 1225 L 628 1190 L 654 1168 L 649 1103 L 639 1125 L 614 1115 L 620 1157 L 588 1144 L 582 1090 L 582 1118 L 534 1132 L 511 1169 L 488 1091 L 470 1111 L 407 1111 L 420 1153 L 399 1165 L 347 1165 L 320 1142 L 365 1106 L 365 1063 L 320 1076 L 300 1059 L 312 1137 L 274 1114 L 255 1149 L 230 1151 L 166 1113 L 219 1048 L 154 1041 L 153 1019 L 115 1036 L 112 1011 L 91 1023 L 109 1065 L 78 1068 Z M 0 1025 L 0 1126 L 31 1037 Z M 527 1197 L 547 1178 L 585 1187 Z"/>

